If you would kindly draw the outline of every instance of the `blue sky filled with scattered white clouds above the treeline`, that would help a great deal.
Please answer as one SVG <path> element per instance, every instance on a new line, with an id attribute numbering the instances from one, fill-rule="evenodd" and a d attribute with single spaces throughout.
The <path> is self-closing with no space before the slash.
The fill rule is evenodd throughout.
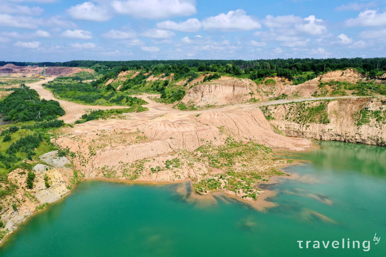
<path id="1" fill-rule="evenodd" d="M 385 57 L 386 0 L 0 0 L 5 61 Z"/>

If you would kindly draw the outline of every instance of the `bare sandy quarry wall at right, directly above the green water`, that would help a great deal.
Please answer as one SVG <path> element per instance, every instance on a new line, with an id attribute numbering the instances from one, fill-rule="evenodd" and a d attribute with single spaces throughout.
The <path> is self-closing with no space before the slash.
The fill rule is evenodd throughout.
<path id="1" fill-rule="evenodd" d="M 319 103 L 319 101 L 312 102 L 314 105 Z M 379 99 L 358 98 L 330 101 L 328 102 L 330 119 L 328 124 L 302 125 L 285 119 L 291 105 L 293 104 L 269 107 L 275 118 L 270 121 L 271 124 L 278 127 L 287 136 L 386 146 L 386 124 L 371 119 L 370 123 L 357 126 L 358 115 L 362 109 L 379 111 L 386 108 L 386 104 Z"/>

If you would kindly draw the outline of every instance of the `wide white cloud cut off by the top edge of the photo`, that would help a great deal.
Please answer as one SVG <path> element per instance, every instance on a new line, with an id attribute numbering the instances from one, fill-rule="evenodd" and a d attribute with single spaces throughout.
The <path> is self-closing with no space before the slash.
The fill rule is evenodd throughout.
<path id="1" fill-rule="evenodd" d="M 189 16 L 197 12 L 193 2 L 183 0 L 114 0 L 112 7 L 121 14 L 151 19 Z"/>

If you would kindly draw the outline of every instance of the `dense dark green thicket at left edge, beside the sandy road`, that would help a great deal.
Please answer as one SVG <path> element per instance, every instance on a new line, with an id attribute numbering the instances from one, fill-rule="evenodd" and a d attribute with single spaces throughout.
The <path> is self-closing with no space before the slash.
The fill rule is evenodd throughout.
<path id="1" fill-rule="evenodd" d="M 49 121 L 65 114 L 58 101 L 40 100 L 39 94 L 24 84 L 9 90 L 14 92 L 0 101 L 4 121 Z"/>

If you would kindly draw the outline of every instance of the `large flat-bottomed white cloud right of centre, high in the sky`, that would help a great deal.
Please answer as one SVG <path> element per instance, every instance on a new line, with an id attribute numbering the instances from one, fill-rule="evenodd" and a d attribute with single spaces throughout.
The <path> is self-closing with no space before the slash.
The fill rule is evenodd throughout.
<path id="1" fill-rule="evenodd" d="M 205 18 L 202 24 L 205 30 L 251 30 L 261 28 L 260 23 L 254 17 L 246 15 L 246 12 L 242 9 Z"/>

